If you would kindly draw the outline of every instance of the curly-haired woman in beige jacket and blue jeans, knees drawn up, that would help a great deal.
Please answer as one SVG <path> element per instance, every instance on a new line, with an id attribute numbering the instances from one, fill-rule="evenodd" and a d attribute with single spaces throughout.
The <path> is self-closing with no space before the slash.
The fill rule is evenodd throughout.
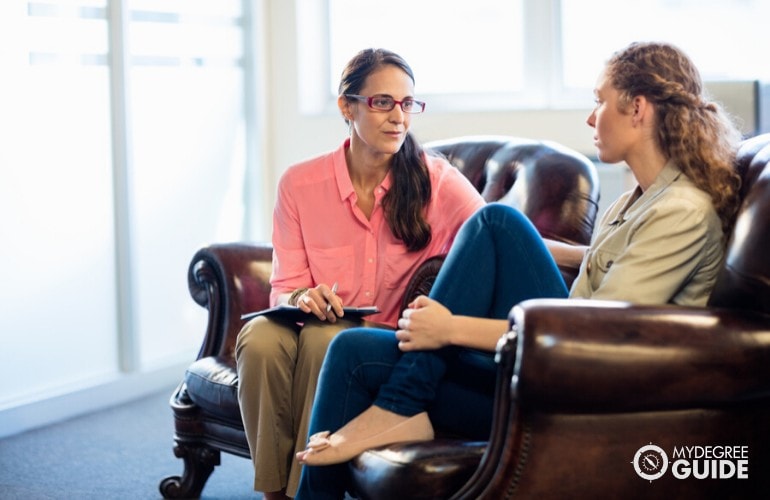
<path id="1" fill-rule="evenodd" d="M 595 94 L 587 121 L 599 159 L 625 162 L 636 188 L 602 216 L 590 247 L 561 256 L 520 212 L 487 205 L 463 226 L 430 297 L 410 304 L 395 334 L 354 328 L 335 338 L 313 407 L 315 434 L 298 455 L 306 467 L 297 498 L 342 498 L 342 462 L 380 445 L 432 439 L 433 425 L 487 439 L 491 353 L 522 300 L 706 304 L 738 209 L 739 133 L 671 45 L 635 43 L 615 53 Z M 567 290 L 556 263 L 570 253 L 582 264 Z"/>

